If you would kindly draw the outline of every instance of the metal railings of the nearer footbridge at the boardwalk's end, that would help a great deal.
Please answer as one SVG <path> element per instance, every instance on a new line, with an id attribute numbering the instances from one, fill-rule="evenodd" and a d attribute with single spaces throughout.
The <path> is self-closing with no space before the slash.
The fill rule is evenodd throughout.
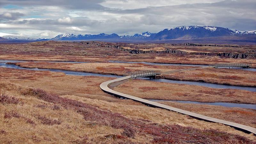
<path id="1" fill-rule="evenodd" d="M 161 70 L 145 70 L 145 71 L 135 71 L 124 74 L 124 76 L 131 76 L 131 78 L 137 77 L 148 77 L 148 76 L 156 76 L 161 75 Z"/>

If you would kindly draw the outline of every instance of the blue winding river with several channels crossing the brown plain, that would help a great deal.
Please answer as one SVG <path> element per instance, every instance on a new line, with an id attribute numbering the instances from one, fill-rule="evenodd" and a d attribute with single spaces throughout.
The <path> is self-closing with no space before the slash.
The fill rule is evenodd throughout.
<path id="1" fill-rule="evenodd" d="M 66 75 L 72 75 L 72 76 L 103 76 L 103 77 L 117 77 L 117 78 L 122 77 L 122 76 L 115 76 L 115 75 L 105 75 L 105 74 L 77 72 L 77 71 L 68 71 L 68 70 L 59 70 L 59 69 L 22 68 L 22 67 L 12 65 L 12 64 L 6 64 L 6 62 L 26 62 L 26 61 L 0 60 L 0 68 L 2 67 L 2 68 L 15 68 L 15 69 L 26 69 L 26 70 L 36 70 L 36 71 L 63 72 Z M 42 62 L 42 61 L 34 61 L 34 62 Z M 49 61 L 45 61 L 45 62 L 49 62 Z M 87 62 L 75 62 L 75 61 L 51 61 L 51 62 L 87 63 Z M 114 61 L 111 61 L 111 62 L 114 62 Z M 120 61 L 118 61 L 118 63 L 119 62 Z M 129 63 L 137 63 L 137 62 L 129 62 Z M 145 63 L 145 62 L 139 62 L 139 63 Z M 148 64 L 148 63 L 146 63 L 146 64 Z M 150 63 L 150 64 L 153 65 L 155 63 Z M 181 64 L 161 64 L 161 65 L 183 66 Z M 193 65 L 193 66 L 199 66 L 199 65 Z M 168 79 L 150 79 L 150 78 L 140 78 L 140 79 L 150 80 L 150 81 L 155 81 L 155 82 L 198 85 L 198 86 L 205 86 L 205 87 L 210 87 L 210 88 L 239 89 L 239 90 L 247 90 L 247 91 L 256 92 L 256 87 L 231 86 L 231 85 L 224 85 L 224 84 L 211 84 L 211 83 L 204 83 L 204 82 L 178 81 L 178 80 L 168 80 Z M 236 103 L 225 103 L 225 102 L 195 102 L 195 101 L 178 101 L 178 100 L 152 100 L 152 101 L 172 101 L 172 102 L 182 102 L 182 103 L 196 103 L 196 104 L 220 105 L 220 106 L 225 106 L 225 107 L 239 107 L 239 108 L 256 109 L 256 104 L 236 104 Z"/>

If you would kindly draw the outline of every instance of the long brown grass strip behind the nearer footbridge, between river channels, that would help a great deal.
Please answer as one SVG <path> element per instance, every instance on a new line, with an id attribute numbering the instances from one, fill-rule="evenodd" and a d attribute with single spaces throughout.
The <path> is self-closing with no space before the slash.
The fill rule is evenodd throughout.
<path id="1" fill-rule="evenodd" d="M 12 63 L 10 63 L 12 64 Z M 60 70 L 81 71 L 99 74 L 111 74 L 123 76 L 131 71 L 161 70 L 159 78 L 199 81 L 214 84 L 226 84 L 236 86 L 256 86 L 256 72 L 226 68 L 188 67 L 188 66 L 163 66 L 147 64 L 127 64 L 110 62 L 90 63 L 49 63 L 49 62 L 18 62 L 13 63 L 24 68 L 49 68 Z"/>

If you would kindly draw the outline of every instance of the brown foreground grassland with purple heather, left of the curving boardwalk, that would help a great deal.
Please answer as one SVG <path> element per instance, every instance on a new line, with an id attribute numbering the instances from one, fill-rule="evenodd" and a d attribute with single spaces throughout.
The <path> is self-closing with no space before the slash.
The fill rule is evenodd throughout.
<path id="1" fill-rule="evenodd" d="M 11 68 L 0 76 L 2 143 L 255 143 L 222 124 L 106 94 L 99 84 L 110 77 Z"/>

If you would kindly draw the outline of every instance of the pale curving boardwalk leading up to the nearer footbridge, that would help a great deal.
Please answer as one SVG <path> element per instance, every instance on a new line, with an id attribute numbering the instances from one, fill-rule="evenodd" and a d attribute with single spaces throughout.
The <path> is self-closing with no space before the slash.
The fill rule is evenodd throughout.
<path id="1" fill-rule="evenodd" d="M 106 82 L 103 82 L 103 83 L 100 84 L 100 88 L 104 92 L 107 92 L 107 93 L 110 93 L 112 95 L 116 95 L 116 96 L 119 96 L 119 97 L 131 99 L 131 100 L 143 103 L 143 104 L 148 105 L 148 106 L 168 109 L 168 110 L 175 111 L 175 112 L 178 112 L 178 113 L 181 113 L 181 114 L 184 114 L 184 115 L 188 115 L 188 116 L 191 116 L 193 118 L 196 118 L 196 119 L 199 119 L 199 120 L 204 120 L 204 121 L 207 121 L 207 122 L 215 122 L 215 123 L 225 124 L 225 125 L 234 127 L 237 130 L 241 130 L 241 131 L 244 131 L 244 132 L 247 132 L 247 133 L 253 133 L 254 135 L 256 135 L 256 129 L 253 128 L 253 127 L 250 127 L 250 126 L 246 126 L 246 125 L 243 125 L 243 124 L 237 124 L 237 123 L 233 123 L 233 122 L 229 122 L 229 121 L 225 121 L 225 120 L 221 120 L 221 119 L 217 119 L 217 118 L 213 118 L 213 117 L 209 117 L 209 116 L 196 114 L 196 113 L 193 113 L 193 112 L 189 112 L 189 111 L 182 110 L 182 109 L 179 109 L 179 108 L 170 107 L 170 106 L 167 106 L 167 105 L 164 105 L 164 104 L 161 104 L 161 103 L 157 103 L 157 102 L 154 102 L 154 101 L 141 99 L 141 98 L 138 98 L 138 97 L 135 97 L 135 96 L 132 96 L 132 95 L 128 95 L 128 94 L 124 94 L 124 93 L 121 93 L 121 92 L 116 92 L 116 91 L 108 88 L 108 84 L 118 82 L 118 81 L 122 81 L 122 80 L 126 80 L 126 79 L 130 79 L 130 78 L 131 78 L 131 76 L 124 76 L 124 77 L 117 78 L 117 79 L 114 79 L 114 80 L 106 81 Z"/>

